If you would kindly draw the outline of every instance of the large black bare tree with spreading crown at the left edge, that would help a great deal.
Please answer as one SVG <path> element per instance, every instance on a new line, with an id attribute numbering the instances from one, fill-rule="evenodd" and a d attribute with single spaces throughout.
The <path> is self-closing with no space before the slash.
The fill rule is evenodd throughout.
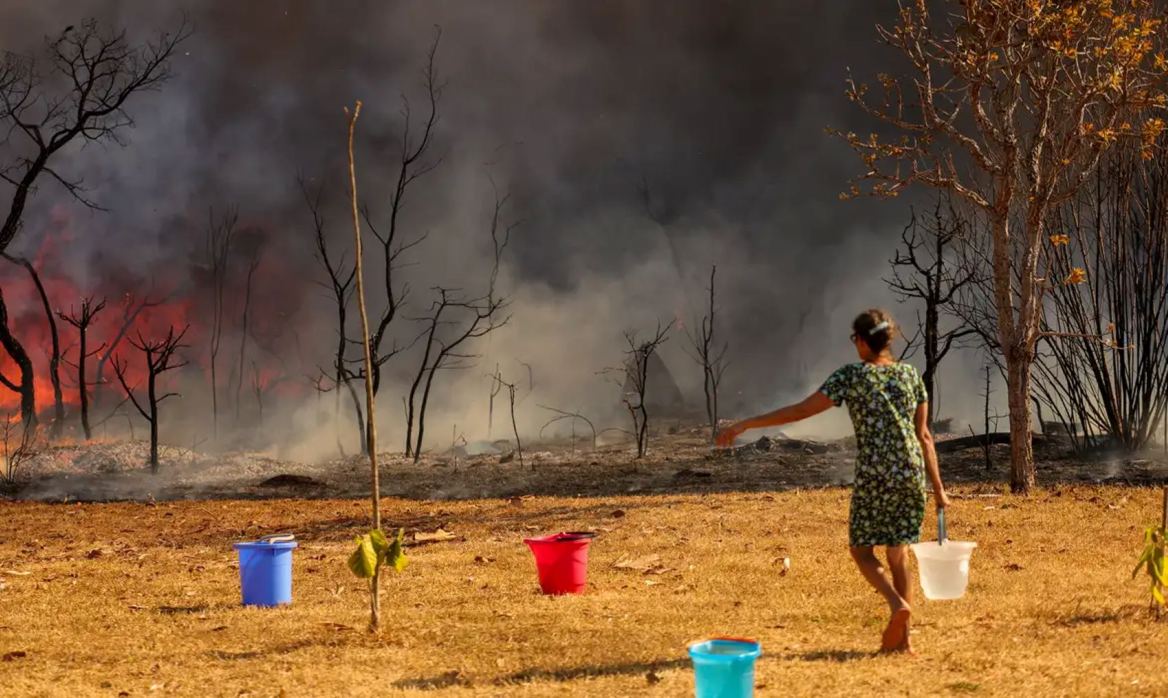
<path id="1" fill-rule="evenodd" d="M 50 180 L 79 203 L 98 209 L 86 196 L 84 182 L 55 168 L 58 154 L 72 145 L 121 144 L 133 125 L 126 105 L 139 92 L 158 90 L 171 78 L 171 58 L 189 36 L 183 22 L 140 44 L 124 32 L 86 20 L 46 39 L 46 58 L 5 53 L 0 56 L 0 181 L 11 187 L 0 224 L 0 253 L 7 253 L 19 233 L 29 197 Z M 20 371 L 21 420 L 36 424 L 33 364 L 8 327 L 0 288 L 0 345 Z"/>

